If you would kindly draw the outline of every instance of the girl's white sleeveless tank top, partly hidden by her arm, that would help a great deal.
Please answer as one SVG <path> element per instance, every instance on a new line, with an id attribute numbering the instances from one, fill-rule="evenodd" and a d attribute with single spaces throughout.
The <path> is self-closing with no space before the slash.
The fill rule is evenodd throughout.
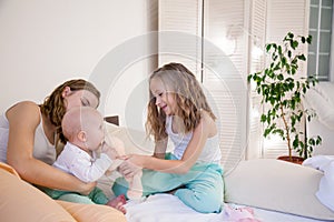
<path id="1" fill-rule="evenodd" d="M 174 143 L 174 155 L 177 159 L 181 159 L 189 141 L 193 138 L 193 132 L 183 134 L 176 134 L 173 132 L 171 129 L 173 117 L 167 117 L 166 119 L 166 133 L 168 134 L 169 139 Z M 200 155 L 198 157 L 198 163 L 217 163 L 220 164 L 222 153 L 219 149 L 219 137 L 218 133 L 212 138 L 208 138 Z"/>

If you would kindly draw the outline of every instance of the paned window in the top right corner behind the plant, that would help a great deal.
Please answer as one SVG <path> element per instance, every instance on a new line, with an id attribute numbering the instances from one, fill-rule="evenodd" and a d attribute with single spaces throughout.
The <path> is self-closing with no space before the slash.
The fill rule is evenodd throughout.
<path id="1" fill-rule="evenodd" d="M 331 80 L 332 14 L 333 0 L 311 0 L 307 74 L 320 81 Z"/>

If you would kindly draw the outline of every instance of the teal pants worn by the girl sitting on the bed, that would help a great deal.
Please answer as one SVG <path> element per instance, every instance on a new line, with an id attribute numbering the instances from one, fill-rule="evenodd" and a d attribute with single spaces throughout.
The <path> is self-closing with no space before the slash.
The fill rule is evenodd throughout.
<path id="1" fill-rule="evenodd" d="M 166 159 L 175 159 L 167 154 Z M 196 163 L 186 174 L 163 173 L 143 170 L 143 195 L 164 193 L 176 190 L 174 193 L 186 205 L 200 213 L 220 212 L 224 201 L 223 169 L 214 163 Z M 128 182 L 118 178 L 112 191 L 116 195 L 125 194 Z"/>

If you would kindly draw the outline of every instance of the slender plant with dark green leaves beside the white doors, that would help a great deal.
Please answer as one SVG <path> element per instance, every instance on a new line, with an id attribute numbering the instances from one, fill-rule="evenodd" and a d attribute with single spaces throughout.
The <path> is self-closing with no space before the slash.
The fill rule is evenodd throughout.
<path id="1" fill-rule="evenodd" d="M 322 141 L 320 135 L 307 138 L 303 121 L 311 121 L 315 112 L 304 109 L 303 97 L 317 83 L 314 77 L 297 77 L 299 63 L 306 57 L 298 50 L 302 44 L 311 44 L 312 36 L 303 37 L 288 32 L 282 44 L 266 44 L 269 65 L 250 73 L 247 81 L 256 83 L 255 91 L 262 97 L 265 109 L 261 115 L 264 137 L 278 134 L 286 141 L 288 160 L 293 161 L 293 150 L 304 160 L 312 157 L 313 148 Z"/>

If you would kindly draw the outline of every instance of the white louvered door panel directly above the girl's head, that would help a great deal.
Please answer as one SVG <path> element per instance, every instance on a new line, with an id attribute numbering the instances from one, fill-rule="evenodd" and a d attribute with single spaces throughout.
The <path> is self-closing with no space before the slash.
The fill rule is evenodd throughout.
<path id="1" fill-rule="evenodd" d="M 159 0 L 159 67 L 180 62 L 200 79 L 202 1 Z"/>

